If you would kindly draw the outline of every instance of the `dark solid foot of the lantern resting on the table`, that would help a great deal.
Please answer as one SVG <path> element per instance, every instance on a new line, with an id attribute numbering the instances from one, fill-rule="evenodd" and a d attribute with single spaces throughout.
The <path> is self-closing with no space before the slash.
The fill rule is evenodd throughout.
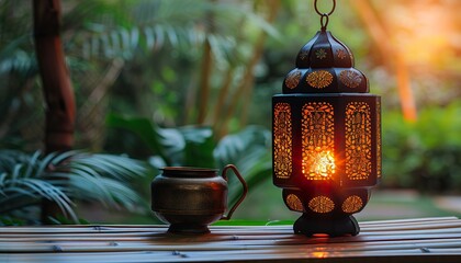
<path id="1" fill-rule="evenodd" d="M 335 218 L 313 218 L 303 214 L 293 225 L 294 233 L 328 235 L 329 237 L 357 236 L 360 232 L 359 224 L 353 216 Z"/>

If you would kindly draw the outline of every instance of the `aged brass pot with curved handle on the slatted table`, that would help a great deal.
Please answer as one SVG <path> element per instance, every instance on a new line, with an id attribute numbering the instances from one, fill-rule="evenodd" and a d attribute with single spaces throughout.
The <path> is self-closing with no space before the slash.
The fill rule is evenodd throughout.
<path id="1" fill-rule="evenodd" d="M 227 215 L 227 176 L 232 169 L 244 191 Z M 232 214 L 244 201 L 248 187 L 237 168 L 228 164 L 222 176 L 215 169 L 166 167 L 154 179 L 151 209 L 164 222 L 170 224 L 169 232 L 206 233 L 207 226 L 220 219 L 231 219 Z"/>

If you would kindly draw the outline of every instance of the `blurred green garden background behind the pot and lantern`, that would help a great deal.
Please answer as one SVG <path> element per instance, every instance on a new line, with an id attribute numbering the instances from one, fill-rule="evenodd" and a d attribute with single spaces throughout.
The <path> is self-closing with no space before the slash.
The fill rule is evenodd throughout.
<path id="1" fill-rule="evenodd" d="M 149 183 L 159 168 L 226 163 L 250 187 L 234 218 L 295 219 L 271 182 L 271 96 L 321 27 L 313 2 L 64 0 L 74 149 L 85 158 L 63 168 L 80 169 L 71 185 L 53 186 L 44 174 L 67 156 L 41 152 L 32 1 L 0 0 L 1 224 L 40 222 L 43 197 L 80 222 L 155 224 Z M 329 18 L 382 96 L 383 180 L 361 220 L 461 215 L 459 10 L 456 0 L 341 0 Z M 229 192 L 235 201 L 237 182 Z"/>

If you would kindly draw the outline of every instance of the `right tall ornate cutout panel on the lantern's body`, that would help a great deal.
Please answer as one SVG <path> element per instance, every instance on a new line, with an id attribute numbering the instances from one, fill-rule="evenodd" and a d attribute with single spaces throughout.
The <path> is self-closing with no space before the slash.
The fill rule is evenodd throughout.
<path id="1" fill-rule="evenodd" d="M 346 106 L 346 175 L 367 180 L 371 174 L 371 111 L 366 102 Z"/>

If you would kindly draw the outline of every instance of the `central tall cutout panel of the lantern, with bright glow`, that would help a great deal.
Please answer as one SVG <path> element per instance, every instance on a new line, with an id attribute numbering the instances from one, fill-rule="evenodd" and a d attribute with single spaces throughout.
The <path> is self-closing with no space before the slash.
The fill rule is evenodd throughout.
<path id="1" fill-rule="evenodd" d="M 307 180 L 330 180 L 335 173 L 334 108 L 327 102 L 303 106 L 302 172 Z"/>

